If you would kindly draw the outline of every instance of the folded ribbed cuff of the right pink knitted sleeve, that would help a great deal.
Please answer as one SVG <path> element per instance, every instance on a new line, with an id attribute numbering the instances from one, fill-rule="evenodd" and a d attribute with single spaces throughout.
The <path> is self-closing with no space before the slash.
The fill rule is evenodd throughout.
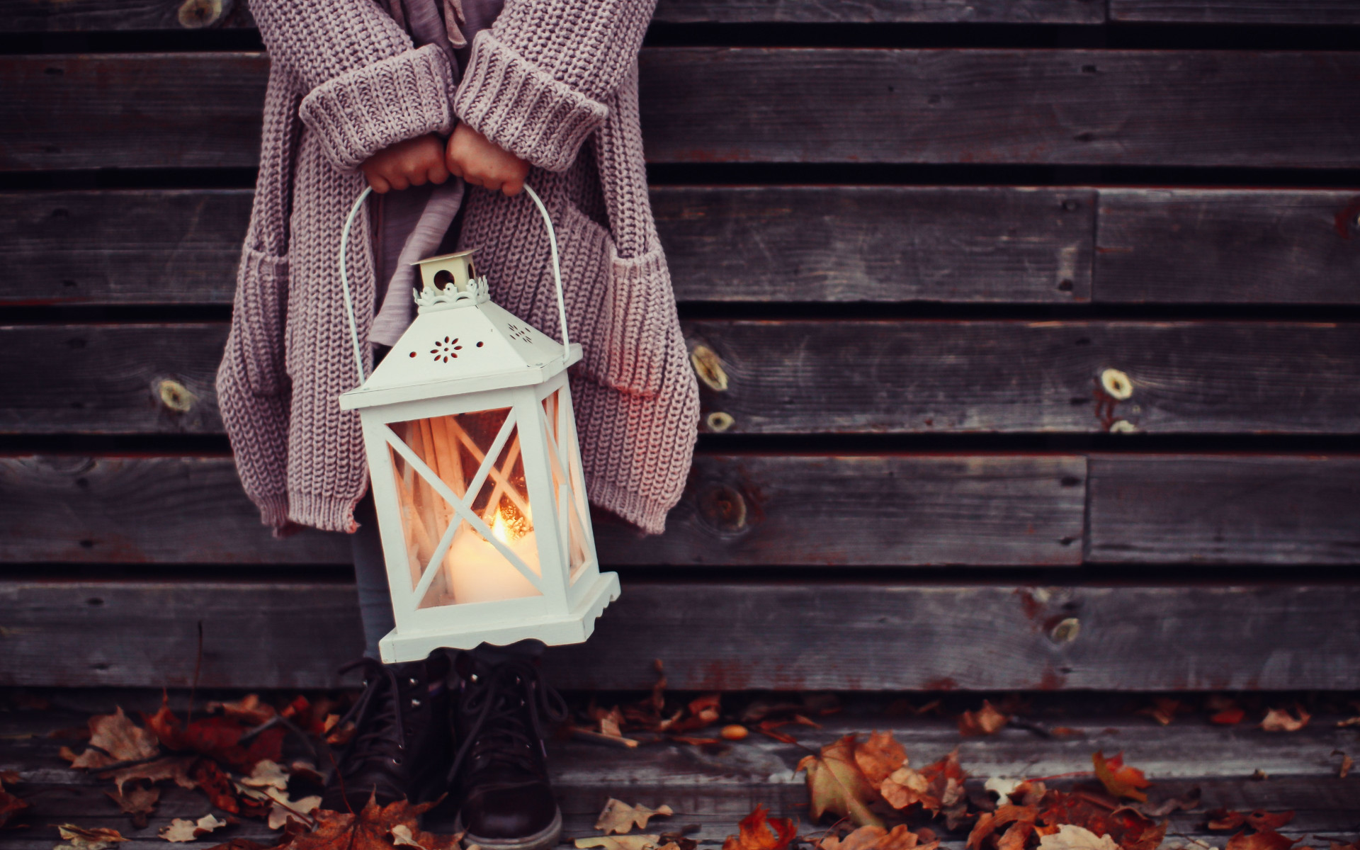
<path id="1" fill-rule="evenodd" d="M 472 129 L 549 171 L 570 166 L 609 112 L 604 103 L 555 80 L 498 41 L 491 30 L 473 39 L 453 109 Z"/>

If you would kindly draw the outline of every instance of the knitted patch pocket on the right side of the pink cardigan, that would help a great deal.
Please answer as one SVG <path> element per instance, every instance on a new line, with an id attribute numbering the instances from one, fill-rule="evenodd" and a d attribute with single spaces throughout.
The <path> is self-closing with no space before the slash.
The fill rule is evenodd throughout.
<path id="1" fill-rule="evenodd" d="M 661 245 L 620 257 L 609 231 L 575 204 L 564 203 L 559 220 L 563 286 L 575 290 L 567 321 L 585 348 L 582 367 L 604 386 L 656 396 L 680 321 Z"/>

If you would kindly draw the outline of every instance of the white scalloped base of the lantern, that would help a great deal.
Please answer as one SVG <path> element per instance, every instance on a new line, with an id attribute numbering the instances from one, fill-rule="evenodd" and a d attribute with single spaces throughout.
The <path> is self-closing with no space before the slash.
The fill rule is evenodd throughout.
<path id="1" fill-rule="evenodd" d="M 384 664 L 398 664 L 420 661 L 437 649 L 473 649 L 479 643 L 507 646 L 528 638 L 543 641 L 548 646 L 583 643 L 594 631 L 596 619 L 616 598 L 619 598 L 619 574 L 600 573 L 566 616 L 534 617 L 490 628 L 479 626 L 460 630 L 457 624 L 423 632 L 400 632 L 393 628 L 378 641 L 378 651 Z"/>

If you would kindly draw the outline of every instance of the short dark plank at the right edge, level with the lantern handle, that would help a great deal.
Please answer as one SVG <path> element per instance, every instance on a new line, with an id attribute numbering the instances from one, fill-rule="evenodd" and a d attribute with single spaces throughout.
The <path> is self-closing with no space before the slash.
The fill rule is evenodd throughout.
<path id="1" fill-rule="evenodd" d="M 1095 301 L 1360 303 L 1355 192 L 1102 189 L 1099 203 Z"/>

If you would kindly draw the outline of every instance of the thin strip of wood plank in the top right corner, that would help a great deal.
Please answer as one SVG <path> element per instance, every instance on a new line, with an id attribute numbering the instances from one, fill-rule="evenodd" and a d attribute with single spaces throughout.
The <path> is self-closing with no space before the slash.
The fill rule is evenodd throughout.
<path id="1" fill-rule="evenodd" d="M 1360 23 L 1350 0 L 1108 0 L 1110 20 L 1126 23 Z"/>

